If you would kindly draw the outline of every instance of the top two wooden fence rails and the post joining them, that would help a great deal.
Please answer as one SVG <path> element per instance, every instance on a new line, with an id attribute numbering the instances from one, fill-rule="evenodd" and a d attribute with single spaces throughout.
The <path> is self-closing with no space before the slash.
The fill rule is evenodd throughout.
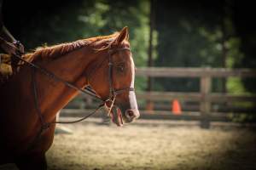
<path id="1" fill-rule="evenodd" d="M 209 127 L 211 121 L 212 102 L 226 101 L 256 101 L 252 95 L 232 95 L 232 94 L 212 94 L 213 77 L 256 77 L 256 71 L 249 69 L 223 69 L 223 68 L 140 68 L 137 70 L 137 76 L 141 77 L 199 77 L 199 93 L 159 93 L 149 92 L 138 96 L 142 99 L 180 99 L 199 101 L 201 113 L 201 127 Z"/>

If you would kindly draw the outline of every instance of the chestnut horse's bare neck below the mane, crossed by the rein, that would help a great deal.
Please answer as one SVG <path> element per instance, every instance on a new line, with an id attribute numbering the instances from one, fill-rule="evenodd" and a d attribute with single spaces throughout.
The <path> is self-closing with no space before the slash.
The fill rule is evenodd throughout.
<path id="1" fill-rule="evenodd" d="M 90 65 L 95 58 L 96 55 L 92 53 L 90 48 L 80 48 L 58 59 L 38 59 L 36 64 L 41 65 L 46 70 L 54 73 L 57 77 L 61 77 L 61 79 L 72 83 L 78 88 L 84 88 L 84 86 L 87 85 L 84 71 L 86 71 L 88 65 Z M 37 82 L 38 88 L 38 105 L 46 122 L 52 121 L 57 111 L 60 111 L 78 94 L 73 88 L 68 88 L 62 82 L 51 79 L 40 71 L 36 71 L 35 81 Z M 32 92 L 32 87 L 30 89 Z M 31 97 L 33 95 L 34 94 L 31 93 Z M 34 102 L 32 105 L 33 104 Z M 34 107 L 34 105 L 32 107 Z"/>

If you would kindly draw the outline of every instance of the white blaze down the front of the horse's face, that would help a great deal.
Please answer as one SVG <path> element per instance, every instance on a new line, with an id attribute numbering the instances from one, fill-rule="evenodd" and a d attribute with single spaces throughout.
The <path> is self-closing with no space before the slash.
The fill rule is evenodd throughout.
<path id="1" fill-rule="evenodd" d="M 134 88 L 134 79 L 135 79 L 135 65 L 133 62 L 132 57 L 131 59 L 131 86 L 130 88 Z M 130 101 L 130 107 L 132 110 L 137 110 L 137 99 L 134 91 L 129 92 L 129 101 Z"/>

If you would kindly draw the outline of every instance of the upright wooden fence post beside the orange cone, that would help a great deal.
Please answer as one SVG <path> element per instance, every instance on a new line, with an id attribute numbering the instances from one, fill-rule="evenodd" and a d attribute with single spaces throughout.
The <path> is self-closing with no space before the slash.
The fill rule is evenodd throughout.
<path id="1" fill-rule="evenodd" d="M 209 70 L 209 68 L 207 68 Z M 211 114 L 211 101 L 209 99 L 209 94 L 211 93 L 212 88 L 212 77 L 207 75 L 201 77 L 201 127 L 209 128 L 210 127 L 210 114 Z"/>

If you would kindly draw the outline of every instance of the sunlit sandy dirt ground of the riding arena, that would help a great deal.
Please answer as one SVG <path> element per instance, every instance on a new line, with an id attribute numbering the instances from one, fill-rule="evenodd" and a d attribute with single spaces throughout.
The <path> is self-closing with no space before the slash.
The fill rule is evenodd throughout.
<path id="1" fill-rule="evenodd" d="M 65 125 L 47 153 L 49 170 L 256 169 L 255 129 L 219 123 L 138 121 L 125 127 L 100 119 Z M 15 169 L 5 165 L 0 169 Z"/>

